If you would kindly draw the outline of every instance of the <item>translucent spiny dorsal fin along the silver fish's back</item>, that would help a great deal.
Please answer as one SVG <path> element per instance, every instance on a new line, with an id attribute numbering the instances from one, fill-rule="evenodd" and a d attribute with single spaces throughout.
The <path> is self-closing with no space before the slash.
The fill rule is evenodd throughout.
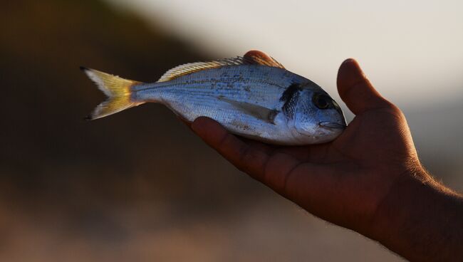
<path id="1" fill-rule="evenodd" d="M 199 70 L 239 65 L 262 65 L 284 68 L 281 66 L 281 63 L 277 62 L 274 58 L 267 56 L 261 51 L 249 51 L 244 56 L 237 56 L 236 58 L 225 58 L 209 62 L 186 63 L 181 66 L 176 66 L 175 68 L 172 68 L 164 73 L 164 75 L 162 75 L 161 78 L 157 80 L 157 82 L 166 82 L 178 78 L 182 75 L 188 75 L 190 73 L 197 72 Z"/>

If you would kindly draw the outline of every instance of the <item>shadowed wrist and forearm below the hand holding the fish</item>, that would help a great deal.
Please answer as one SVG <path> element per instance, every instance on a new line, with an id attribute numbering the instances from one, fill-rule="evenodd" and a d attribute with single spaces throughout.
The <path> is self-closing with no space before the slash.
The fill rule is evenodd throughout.
<path id="1" fill-rule="evenodd" d="M 423 170 L 395 184 L 373 227 L 372 239 L 410 261 L 463 261 L 463 198 Z"/>

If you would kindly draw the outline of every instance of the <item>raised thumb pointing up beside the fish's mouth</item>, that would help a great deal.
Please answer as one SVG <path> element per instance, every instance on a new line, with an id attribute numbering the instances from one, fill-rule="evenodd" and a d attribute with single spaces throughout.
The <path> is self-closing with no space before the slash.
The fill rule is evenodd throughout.
<path id="1" fill-rule="evenodd" d="M 352 58 L 340 65 L 337 82 L 340 98 L 355 115 L 391 105 L 373 88 L 357 61 Z"/>

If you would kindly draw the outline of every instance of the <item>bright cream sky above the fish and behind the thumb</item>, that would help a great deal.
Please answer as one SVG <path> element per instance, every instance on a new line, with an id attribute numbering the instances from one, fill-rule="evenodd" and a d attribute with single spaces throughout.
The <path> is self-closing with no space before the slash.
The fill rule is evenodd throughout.
<path id="1" fill-rule="evenodd" d="M 269 53 L 333 98 L 350 57 L 400 106 L 463 98 L 463 1 L 106 1 L 217 58 Z"/>

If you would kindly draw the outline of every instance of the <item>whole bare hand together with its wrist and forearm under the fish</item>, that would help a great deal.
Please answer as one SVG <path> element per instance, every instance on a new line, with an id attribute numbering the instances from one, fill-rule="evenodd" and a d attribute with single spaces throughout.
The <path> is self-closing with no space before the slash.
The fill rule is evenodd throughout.
<path id="1" fill-rule="evenodd" d="M 337 83 L 355 118 L 333 142 L 266 145 L 207 117 L 191 128 L 235 167 L 321 219 L 410 261 L 463 261 L 463 197 L 425 171 L 404 115 L 356 61 L 344 61 Z"/>

